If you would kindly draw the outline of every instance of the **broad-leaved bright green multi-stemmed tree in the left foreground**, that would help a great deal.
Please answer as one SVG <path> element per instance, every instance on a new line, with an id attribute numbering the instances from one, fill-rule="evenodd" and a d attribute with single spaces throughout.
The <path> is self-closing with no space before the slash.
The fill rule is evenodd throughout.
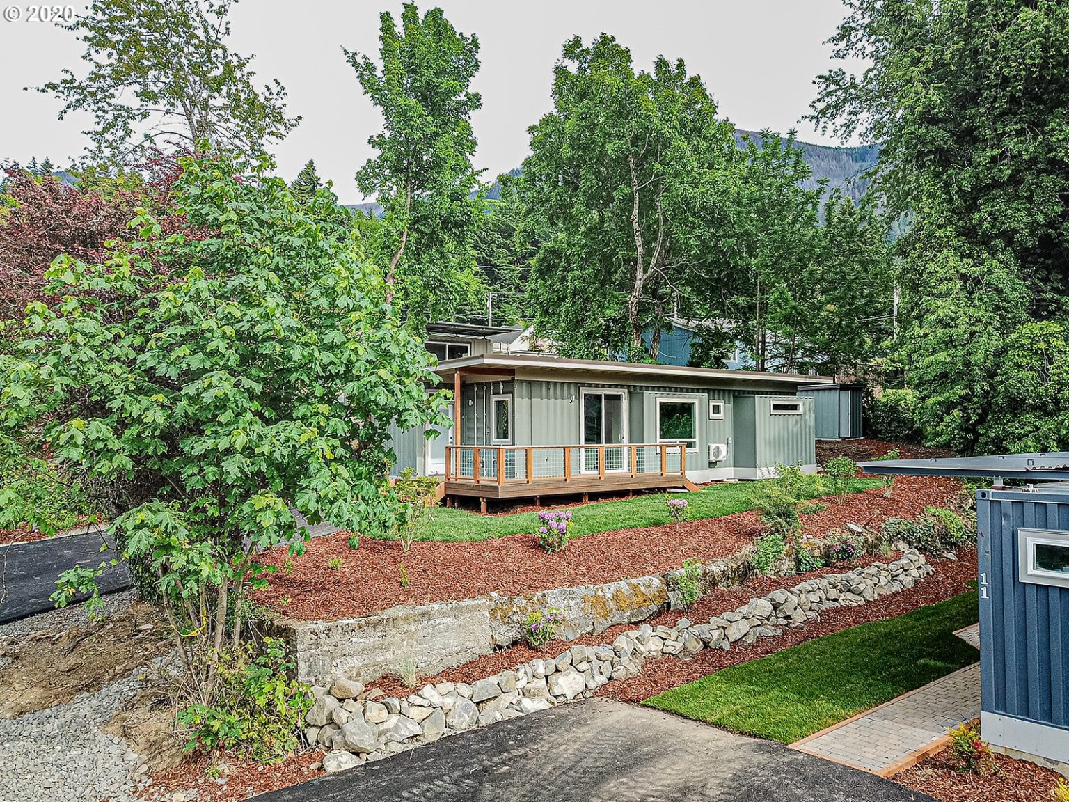
<path id="1" fill-rule="evenodd" d="M 107 488 L 112 531 L 156 577 L 187 679 L 211 704 L 264 582 L 257 555 L 301 550 L 293 510 L 356 531 L 392 525 L 388 427 L 444 422 L 445 399 L 424 390 L 431 357 L 381 272 L 355 236 L 334 235 L 347 212 L 328 191 L 297 204 L 266 160 L 181 165 L 182 233 L 141 214 L 99 262 L 49 269 L 57 300 L 31 303 L 27 337 L 0 356 L 0 456 L 50 451 Z M 15 500 L 0 498 L 0 516 L 25 509 Z M 93 592 L 93 574 L 61 577 L 59 602 Z"/>

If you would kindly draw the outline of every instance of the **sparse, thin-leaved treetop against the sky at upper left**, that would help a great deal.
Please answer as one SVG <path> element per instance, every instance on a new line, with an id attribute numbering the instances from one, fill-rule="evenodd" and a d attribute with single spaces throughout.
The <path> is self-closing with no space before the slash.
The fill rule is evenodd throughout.
<path id="1" fill-rule="evenodd" d="M 207 141 L 253 156 L 300 118 L 285 114 L 277 80 L 257 87 L 252 56 L 227 45 L 232 0 L 94 0 L 64 26 L 86 45 L 89 73 L 63 71 L 38 91 L 63 101 L 62 120 L 88 112 L 95 160 L 125 165 L 155 146 Z M 150 140 L 151 138 L 151 140 Z"/>

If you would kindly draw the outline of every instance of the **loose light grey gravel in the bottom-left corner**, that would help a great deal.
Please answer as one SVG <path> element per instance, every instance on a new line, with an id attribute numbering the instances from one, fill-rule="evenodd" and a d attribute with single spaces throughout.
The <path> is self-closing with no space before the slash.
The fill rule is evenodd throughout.
<path id="1" fill-rule="evenodd" d="M 140 685 L 139 672 L 64 705 L 0 720 L 0 799 L 20 802 L 131 799 L 148 766 L 118 736 L 100 727 Z"/>

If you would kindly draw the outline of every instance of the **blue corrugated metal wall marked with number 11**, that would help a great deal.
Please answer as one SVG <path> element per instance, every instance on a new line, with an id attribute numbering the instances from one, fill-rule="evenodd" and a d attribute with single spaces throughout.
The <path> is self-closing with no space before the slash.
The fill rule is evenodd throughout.
<path id="1" fill-rule="evenodd" d="M 1069 729 L 1069 588 L 1019 582 L 1017 542 L 1022 526 L 1069 531 L 1069 495 L 976 497 L 981 707 Z"/>

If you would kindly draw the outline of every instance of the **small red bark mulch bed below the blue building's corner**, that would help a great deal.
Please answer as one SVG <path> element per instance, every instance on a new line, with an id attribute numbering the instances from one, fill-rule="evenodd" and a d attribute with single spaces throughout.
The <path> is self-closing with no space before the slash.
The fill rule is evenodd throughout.
<path id="1" fill-rule="evenodd" d="M 994 766 L 983 774 L 958 771 L 946 750 L 921 760 L 892 780 L 910 790 L 942 802 L 1050 802 L 1062 775 L 1051 769 L 992 755 Z"/>

